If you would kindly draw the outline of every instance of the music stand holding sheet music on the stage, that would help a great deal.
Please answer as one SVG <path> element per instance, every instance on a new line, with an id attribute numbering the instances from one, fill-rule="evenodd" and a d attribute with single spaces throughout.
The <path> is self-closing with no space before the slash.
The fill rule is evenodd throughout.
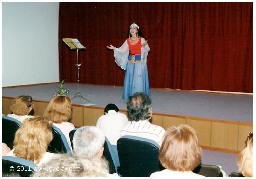
<path id="1" fill-rule="evenodd" d="M 85 47 L 83 45 L 81 45 L 81 43 L 76 38 L 63 38 L 62 40 L 65 42 L 65 44 L 68 47 L 70 47 L 70 49 L 76 49 L 76 53 L 77 53 L 77 64 L 76 64 L 76 66 L 77 66 L 77 76 L 78 76 L 78 80 L 77 80 L 77 82 L 78 82 L 78 92 L 75 94 L 75 96 L 72 99 L 74 99 L 76 97 L 79 97 L 81 105 L 83 105 L 81 98 L 83 98 L 83 99 L 87 100 L 88 102 L 90 102 L 88 99 L 84 98 L 82 96 L 81 92 L 80 92 L 79 70 L 80 70 L 81 64 L 79 64 L 79 60 L 78 60 L 78 50 L 79 49 L 85 49 Z"/>

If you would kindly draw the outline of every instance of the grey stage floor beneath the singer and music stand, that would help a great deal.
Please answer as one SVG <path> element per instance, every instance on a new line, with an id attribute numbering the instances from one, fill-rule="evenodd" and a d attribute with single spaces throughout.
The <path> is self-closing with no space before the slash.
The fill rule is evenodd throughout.
<path id="1" fill-rule="evenodd" d="M 33 100 L 50 101 L 59 90 L 59 84 L 3 88 L 2 96 L 30 95 Z M 78 84 L 64 83 L 64 89 L 68 89 L 68 96 L 73 98 L 78 92 Z M 119 109 L 126 109 L 122 87 L 80 84 L 80 92 L 90 101 L 81 98 L 83 105 L 104 108 L 114 103 Z M 151 98 L 154 113 L 253 123 L 253 95 L 151 89 Z M 79 97 L 72 99 L 74 104 L 80 105 L 81 101 Z"/>

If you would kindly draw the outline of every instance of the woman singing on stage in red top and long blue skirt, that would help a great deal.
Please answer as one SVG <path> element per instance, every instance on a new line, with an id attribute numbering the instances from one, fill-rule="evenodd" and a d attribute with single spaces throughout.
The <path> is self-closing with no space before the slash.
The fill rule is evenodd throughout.
<path id="1" fill-rule="evenodd" d="M 123 99 L 128 100 L 135 92 L 144 92 L 150 96 L 147 56 L 150 50 L 147 41 L 136 23 L 130 25 L 127 39 L 116 48 L 109 44 L 107 48 L 114 51 L 115 62 L 125 71 Z"/>

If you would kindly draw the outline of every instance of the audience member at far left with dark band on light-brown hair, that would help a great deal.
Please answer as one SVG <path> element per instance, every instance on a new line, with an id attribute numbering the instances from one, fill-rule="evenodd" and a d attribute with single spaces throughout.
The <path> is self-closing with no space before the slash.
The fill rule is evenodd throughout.
<path id="1" fill-rule="evenodd" d="M 32 97 L 28 95 L 17 96 L 13 99 L 10 110 L 12 114 L 8 114 L 8 117 L 12 117 L 14 119 L 23 122 L 26 118 L 34 117 L 29 115 L 29 113 L 34 108 L 34 104 L 32 104 Z"/>

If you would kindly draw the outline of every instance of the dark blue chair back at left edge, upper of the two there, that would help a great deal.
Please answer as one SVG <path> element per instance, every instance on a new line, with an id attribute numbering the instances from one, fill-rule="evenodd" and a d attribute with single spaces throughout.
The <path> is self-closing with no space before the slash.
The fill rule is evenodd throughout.
<path id="1" fill-rule="evenodd" d="M 17 119 L 3 115 L 3 143 L 6 143 L 10 149 L 13 148 L 15 133 L 20 126 L 21 122 Z"/>

